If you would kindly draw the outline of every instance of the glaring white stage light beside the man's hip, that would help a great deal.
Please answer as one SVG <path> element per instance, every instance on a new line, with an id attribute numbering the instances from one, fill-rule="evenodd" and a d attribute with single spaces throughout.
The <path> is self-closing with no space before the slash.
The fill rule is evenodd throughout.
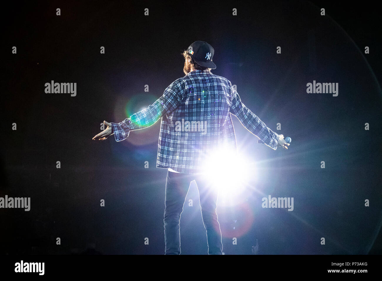
<path id="1" fill-rule="evenodd" d="M 204 171 L 212 188 L 219 190 L 219 203 L 238 201 L 238 197 L 249 185 L 250 179 L 256 177 L 255 169 L 248 159 L 232 151 L 222 148 L 211 153 L 205 163 Z"/>

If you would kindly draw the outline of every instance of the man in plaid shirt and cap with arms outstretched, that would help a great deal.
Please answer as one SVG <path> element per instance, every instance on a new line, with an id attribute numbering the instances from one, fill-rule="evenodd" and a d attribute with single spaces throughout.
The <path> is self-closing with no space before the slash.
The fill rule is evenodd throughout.
<path id="1" fill-rule="evenodd" d="M 168 169 L 165 190 L 165 254 L 180 254 L 180 215 L 190 182 L 199 190 L 202 219 L 206 228 L 208 253 L 222 255 L 222 234 L 217 221 L 218 189 L 208 180 L 208 167 L 213 151 L 236 151 L 236 138 L 231 115 L 236 115 L 249 132 L 265 145 L 288 149 L 289 143 L 272 132 L 241 102 L 231 82 L 211 73 L 214 48 L 196 41 L 183 52 L 185 76 L 165 89 L 154 104 L 120 123 L 108 127 L 93 140 L 105 140 L 114 134 L 116 141 L 125 140 L 130 131 L 146 128 L 161 118 L 157 167 Z M 229 162 L 220 163 L 229 166 Z"/>

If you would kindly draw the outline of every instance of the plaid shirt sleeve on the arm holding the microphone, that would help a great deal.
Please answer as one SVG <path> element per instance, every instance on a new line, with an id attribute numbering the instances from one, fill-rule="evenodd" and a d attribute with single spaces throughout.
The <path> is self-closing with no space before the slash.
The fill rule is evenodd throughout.
<path id="1" fill-rule="evenodd" d="M 251 110 L 249 110 L 240 96 L 232 86 L 231 82 L 228 83 L 228 90 L 230 92 L 230 112 L 239 119 L 240 123 L 251 133 L 257 136 L 265 145 L 276 150 L 278 144 L 278 134 L 268 128 L 264 122 L 260 120 Z"/>

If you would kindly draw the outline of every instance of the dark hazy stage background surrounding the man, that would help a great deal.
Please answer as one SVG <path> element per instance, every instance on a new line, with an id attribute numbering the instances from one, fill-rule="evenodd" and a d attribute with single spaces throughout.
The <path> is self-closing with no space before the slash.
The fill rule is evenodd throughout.
<path id="1" fill-rule="evenodd" d="M 92 137 L 104 120 L 121 122 L 183 77 L 181 53 L 196 40 L 215 49 L 212 73 L 236 84 L 248 108 L 292 138 L 288 150 L 274 151 L 233 117 L 239 151 L 261 170 L 240 205 L 218 206 L 223 252 L 251 254 L 258 239 L 259 254 L 382 253 L 377 7 L 329 1 L 9 5 L 2 10 L 0 197 L 31 197 L 31 211 L 0 209 L 1 254 L 164 253 L 167 171 L 155 167 L 160 122 L 118 143 L 113 136 Z M 46 94 L 51 80 L 77 83 L 77 95 Z M 338 96 L 307 94 L 313 80 L 339 83 Z M 294 197 L 295 210 L 261 208 L 258 191 Z M 207 254 L 194 183 L 190 198 L 194 206 L 185 204 L 181 216 L 182 254 Z"/>

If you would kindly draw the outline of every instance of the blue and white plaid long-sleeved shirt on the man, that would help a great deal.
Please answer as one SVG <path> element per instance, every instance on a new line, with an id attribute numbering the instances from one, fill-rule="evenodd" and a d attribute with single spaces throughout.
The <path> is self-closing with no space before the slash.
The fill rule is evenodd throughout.
<path id="1" fill-rule="evenodd" d="M 209 70 L 194 70 L 168 86 L 154 104 L 120 123 L 112 123 L 116 141 L 161 118 L 157 167 L 180 173 L 199 173 L 209 153 L 225 145 L 236 153 L 231 120 L 235 115 L 265 145 L 277 149 L 278 134 L 241 102 L 226 78 Z"/>

